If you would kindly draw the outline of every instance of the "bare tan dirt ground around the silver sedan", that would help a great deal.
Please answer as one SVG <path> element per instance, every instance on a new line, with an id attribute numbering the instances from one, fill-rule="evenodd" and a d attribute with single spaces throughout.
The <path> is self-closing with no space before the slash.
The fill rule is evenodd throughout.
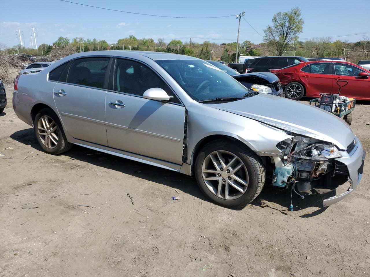
<path id="1" fill-rule="evenodd" d="M 290 212 L 289 192 L 265 186 L 231 210 L 180 173 L 78 146 L 44 153 L 6 89 L 0 276 L 370 276 L 369 103 L 354 113 L 368 155 L 348 198 L 319 209 L 294 197 Z"/>

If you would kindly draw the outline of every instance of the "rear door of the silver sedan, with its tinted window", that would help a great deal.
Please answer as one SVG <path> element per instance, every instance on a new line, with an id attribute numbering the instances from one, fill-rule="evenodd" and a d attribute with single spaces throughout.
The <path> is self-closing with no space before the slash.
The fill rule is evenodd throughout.
<path id="1" fill-rule="evenodd" d="M 105 96 L 110 59 L 75 59 L 70 64 L 65 80 L 60 80 L 54 86 L 55 105 L 68 133 L 79 140 L 104 146 L 108 145 Z"/>

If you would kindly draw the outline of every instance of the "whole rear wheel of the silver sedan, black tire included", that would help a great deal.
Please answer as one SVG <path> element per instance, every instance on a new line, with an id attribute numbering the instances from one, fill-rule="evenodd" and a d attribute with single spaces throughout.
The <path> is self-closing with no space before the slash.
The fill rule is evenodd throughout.
<path id="1" fill-rule="evenodd" d="M 40 110 L 33 123 L 36 139 L 46 153 L 58 155 L 73 146 L 67 141 L 62 124 L 53 110 L 48 108 Z"/>

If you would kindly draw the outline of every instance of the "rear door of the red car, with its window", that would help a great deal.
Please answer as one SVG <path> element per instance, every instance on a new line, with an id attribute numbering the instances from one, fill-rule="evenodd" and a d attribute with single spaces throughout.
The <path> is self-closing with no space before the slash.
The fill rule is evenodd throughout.
<path id="1" fill-rule="evenodd" d="M 309 72 L 301 70 L 299 77 L 306 86 L 308 97 L 319 97 L 322 92 L 332 93 L 333 74 L 330 62 L 314 62 L 310 64 Z"/>

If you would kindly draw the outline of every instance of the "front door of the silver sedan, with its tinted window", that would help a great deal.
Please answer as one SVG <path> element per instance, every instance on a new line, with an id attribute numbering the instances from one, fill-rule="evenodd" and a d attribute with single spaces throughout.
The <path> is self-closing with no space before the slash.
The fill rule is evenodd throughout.
<path id="1" fill-rule="evenodd" d="M 108 146 L 181 164 L 185 107 L 176 95 L 140 62 L 117 58 L 111 72 L 105 102 Z M 162 88 L 174 98 L 145 99 L 142 95 L 149 88 Z"/>

